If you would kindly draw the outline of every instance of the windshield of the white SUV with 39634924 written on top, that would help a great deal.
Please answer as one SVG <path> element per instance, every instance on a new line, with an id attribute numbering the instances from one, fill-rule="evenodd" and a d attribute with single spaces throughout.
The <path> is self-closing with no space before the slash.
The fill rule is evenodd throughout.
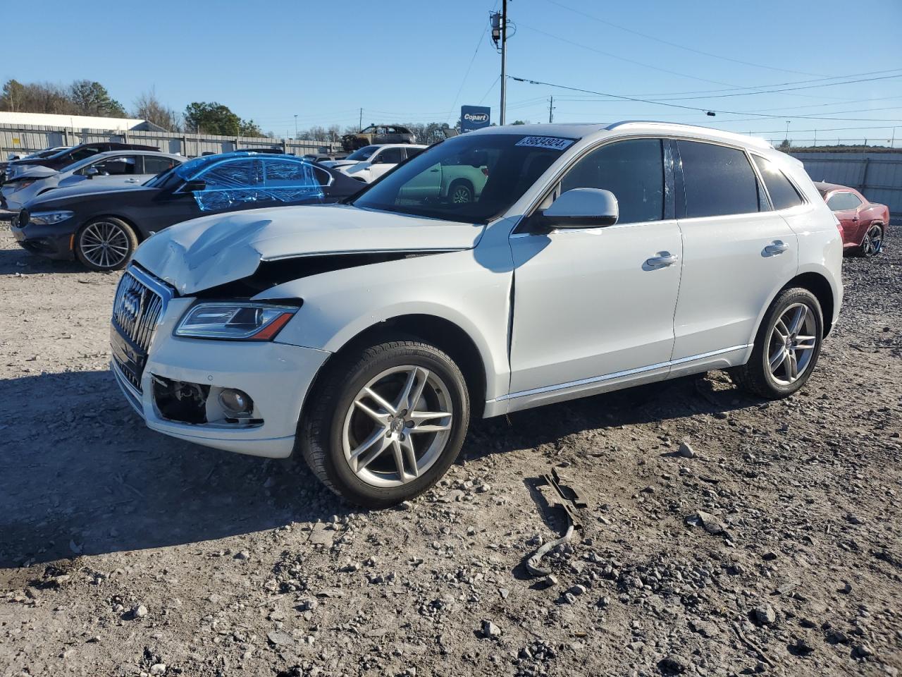
<path id="1" fill-rule="evenodd" d="M 575 139 L 464 134 L 386 174 L 355 207 L 488 223 L 511 208 Z"/>

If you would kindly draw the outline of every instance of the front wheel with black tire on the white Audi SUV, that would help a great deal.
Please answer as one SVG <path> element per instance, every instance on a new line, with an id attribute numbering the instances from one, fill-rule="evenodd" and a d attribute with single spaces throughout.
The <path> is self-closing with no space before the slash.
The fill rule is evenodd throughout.
<path id="1" fill-rule="evenodd" d="M 414 394 L 404 399 L 408 383 Z M 364 394 L 367 387 L 382 403 Z M 422 396 L 410 406 L 417 388 Z M 432 487 L 457 458 L 470 418 L 460 368 L 438 348 L 415 340 L 388 341 L 339 357 L 318 378 L 308 403 L 299 422 L 304 460 L 332 491 L 367 508 L 396 505 Z M 365 453 L 355 456 L 358 450 Z"/>

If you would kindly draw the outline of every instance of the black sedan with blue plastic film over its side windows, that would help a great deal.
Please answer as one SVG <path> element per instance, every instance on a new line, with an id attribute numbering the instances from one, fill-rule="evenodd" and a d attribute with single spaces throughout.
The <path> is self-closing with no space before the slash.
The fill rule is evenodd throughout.
<path id="1" fill-rule="evenodd" d="M 293 155 L 206 155 L 137 188 L 57 189 L 27 203 L 13 235 L 32 254 L 78 259 L 91 270 L 124 268 L 162 228 L 240 209 L 336 202 L 361 190 L 341 172 Z"/>

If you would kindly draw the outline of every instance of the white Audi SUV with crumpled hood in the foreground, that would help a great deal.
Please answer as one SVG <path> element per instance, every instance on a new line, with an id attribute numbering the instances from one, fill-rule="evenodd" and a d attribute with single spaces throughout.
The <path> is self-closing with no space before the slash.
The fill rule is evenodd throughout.
<path id="1" fill-rule="evenodd" d="M 480 168 L 456 201 L 437 167 Z M 431 487 L 473 417 L 728 368 L 805 384 L 842 301 L 836 219 L 769 144 L 663 123 L 517 125 L 436 144 L 346 204 L 150 237 L 112 368 L 155 431 L 302 454 L 350 501 Z"/>

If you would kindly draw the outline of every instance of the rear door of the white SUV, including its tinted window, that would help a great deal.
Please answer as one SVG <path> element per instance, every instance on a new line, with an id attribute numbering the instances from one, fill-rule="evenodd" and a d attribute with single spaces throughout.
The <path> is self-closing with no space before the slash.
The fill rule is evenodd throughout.
<path id="1" fill-rule="evenodd" d="M 672 360 L 691 370 L 697 360 L 745 352 L 761 311 L 796 274 L 796 235 L 771 209 L 745 150 L 671 144 L 684 255 Z"/>

